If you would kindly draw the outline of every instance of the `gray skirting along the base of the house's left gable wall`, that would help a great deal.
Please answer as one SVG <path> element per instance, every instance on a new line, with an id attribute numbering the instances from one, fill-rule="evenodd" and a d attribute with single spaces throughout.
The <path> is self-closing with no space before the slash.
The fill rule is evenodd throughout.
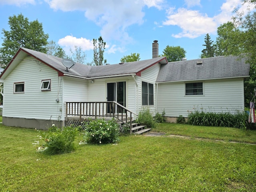
<path id="1" fill-rule="evenodd" d="M 3 117 L 2 124 L 5 126 L 22 127 L 48 130 L 52 124 L 55 126 L 62 127 L 63 121 L 56 120 L 42 120 L 42 119 L 26 119 L 26 118 L 15 118 L 15 117 Z"/>

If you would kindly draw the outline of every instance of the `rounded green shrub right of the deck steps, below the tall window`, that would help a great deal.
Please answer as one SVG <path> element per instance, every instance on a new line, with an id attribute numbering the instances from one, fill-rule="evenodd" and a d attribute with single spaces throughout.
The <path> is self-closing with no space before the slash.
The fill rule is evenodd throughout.
<path id="1" fill-rule="evenodd" d="M 138 114 L 136 122 L 141 125 L 146 125 L 147 128 L 156 127 L 156 121 L 154 120 L 149 108 L 142 108 L 142 110 Z"/>

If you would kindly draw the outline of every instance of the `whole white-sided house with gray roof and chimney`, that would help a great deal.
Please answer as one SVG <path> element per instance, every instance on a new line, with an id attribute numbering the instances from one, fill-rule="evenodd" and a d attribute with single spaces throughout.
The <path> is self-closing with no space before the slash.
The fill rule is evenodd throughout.
<path id="1" fill-rule="evenodd" d="M 115 101 L 133 116 L 142 107 L 154 113 L 165 110 L 170 121 L 180 115 L 187 117 L 194 108 L 232 113 L 244 109 L 243 80 L 250 68 L 244 58 L 221 56 L 168 63 L 166 57 L 157 57 L 157 42 L 153 54 L 152 59 L 137 62 L 76 63 L 68 69 L 61 58 L 20 48 L 0 75 L 4 83 L 3 124 L 38 129 L 53 123 L 64 125 L 67 111 L 76 110 L 66 108 L 70 102 Z M 108 109 L 100 111 L 108 113 Z"/>

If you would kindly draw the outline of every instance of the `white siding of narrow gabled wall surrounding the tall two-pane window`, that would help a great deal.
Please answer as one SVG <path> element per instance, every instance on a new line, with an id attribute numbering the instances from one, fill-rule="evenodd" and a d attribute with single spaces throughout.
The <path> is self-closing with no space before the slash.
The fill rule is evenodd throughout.
<path id="1" fill-rule="evenodd" d="M 144 70 L 141 72 L 141 76 L 137 76 L 138 83 L 138 109 L 143 107 L 148 107 L 152 111 L 153 114 L 156 112 L 156 78 L 158 76 L 158 72 L 160 70 L 160 64 L 155 64 L 154 66 Z M 142 106 L 142 81 L 151 83 L 154 85 L 154 106 Z"/>

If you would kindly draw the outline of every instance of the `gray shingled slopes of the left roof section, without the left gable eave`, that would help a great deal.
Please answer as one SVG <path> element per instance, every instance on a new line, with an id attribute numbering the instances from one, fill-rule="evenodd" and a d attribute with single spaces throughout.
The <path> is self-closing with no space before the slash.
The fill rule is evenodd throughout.
<path id="1" fill-rule="evenodd" d="M 32 54 L 36 58 L 44 61 L 48 65 L 56 68 L 60 72 L 64 74 L 71 74 L 75 76 L 81 77 L 102 77 L 102 76 L 112 76 L 112 75 L 122 75 L 122 74 L 133 74 L 138 73 L 141 70 L 151 66 L 155 63 L 164 63 L 166 64 L 167 60 L 165 57 L 158 57 L 148 60 L 141 60 L 136 62 L 128 62 L 123 64 L 111 64 L 111 65 L 103 65 L 103 66 L 88 66 L 80 63 L 76 63 L 76 65 L 66 72 L 66 68 L 62 64 L 62 59 L 54 56 L 50 56 L 41 52 L 37 52 L 34 50 L 30 50 L 27 48 L 21 48 L 26 52 Z"/>

